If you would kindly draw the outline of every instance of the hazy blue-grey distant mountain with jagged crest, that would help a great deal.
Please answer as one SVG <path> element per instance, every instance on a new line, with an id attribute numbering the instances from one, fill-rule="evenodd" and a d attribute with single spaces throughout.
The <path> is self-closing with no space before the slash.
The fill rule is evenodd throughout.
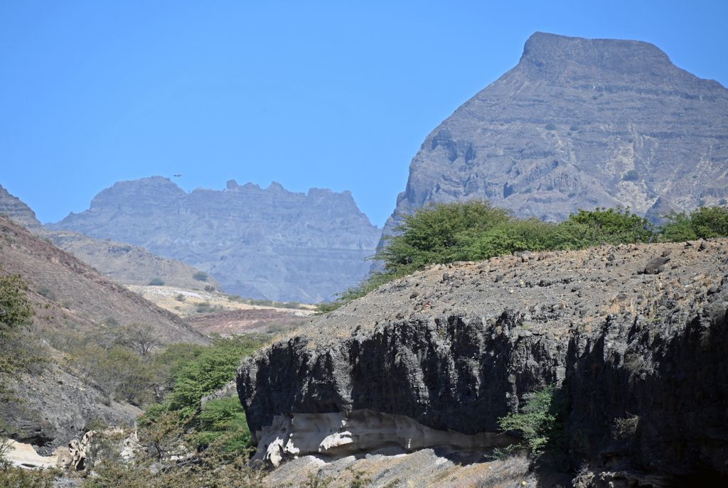
<path id="1" fill-rule="evenodd" d="M 116 183 L 53 229 L 143 246 L 245 297 L 317 302 L 368 272 L 379 229 L 351 193 L 227 183 L 186 193 L 163 177 Z"/>

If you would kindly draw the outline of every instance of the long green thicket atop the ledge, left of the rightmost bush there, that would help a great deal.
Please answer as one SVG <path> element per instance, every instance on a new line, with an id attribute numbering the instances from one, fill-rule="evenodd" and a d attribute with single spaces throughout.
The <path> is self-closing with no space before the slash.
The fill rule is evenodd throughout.
<path id="1" fill-rule="evenodd" d="M 557 224 L 519 219 L 486 201 L 430 205 L 405 216 L 395 231 L 374 257 L 384 263 L 384 271 L 342 292 L 333 302 L 320 304 L 319 313 L 335 310 L 381 284 L 430 264 L 485 260 L 513 252 L 648 242 L 654 238 L 654 229 L 646 219 L 621 207 L 579 210 Z"/>

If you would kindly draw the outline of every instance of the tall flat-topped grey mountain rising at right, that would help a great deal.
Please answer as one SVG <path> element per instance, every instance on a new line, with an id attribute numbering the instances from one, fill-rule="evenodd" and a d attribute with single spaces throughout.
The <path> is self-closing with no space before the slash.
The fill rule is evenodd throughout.
<path id="1" fill-rule="evenodd" d="M 384 235 L 430 202 L 488 199 L 563 220 L 579 208 L 644 215 L 726 198 L 725 87 L 646 42 L 539 32 L 515 68 L 427 136 Z"/>

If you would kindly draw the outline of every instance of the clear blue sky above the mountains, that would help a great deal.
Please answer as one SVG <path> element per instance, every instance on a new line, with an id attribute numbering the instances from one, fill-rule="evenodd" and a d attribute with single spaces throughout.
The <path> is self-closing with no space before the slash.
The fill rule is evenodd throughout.
<path id="1" fill-rule="evenodd" d="M 382 225 L 424 137 L 534 31 L 649 41 L 727 85 L 727 20 L 697 0 L 4 0 L 0 184 L 50 222 L 118 180 L 275 180 L 350 190 Z"/>

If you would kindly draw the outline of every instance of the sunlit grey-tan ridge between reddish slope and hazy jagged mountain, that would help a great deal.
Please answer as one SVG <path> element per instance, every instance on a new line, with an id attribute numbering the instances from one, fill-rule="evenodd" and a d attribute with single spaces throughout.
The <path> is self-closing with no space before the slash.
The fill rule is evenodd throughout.
<path id="1" fill-rule="evenodd" d="M 219 285 L 209 276 L 198 278 L 199 270 L 180 261 L 165 259 L 146 249 L 109 239 L 93 239 L 71 231 L 49 231 L 36 218 L 36 213 L 25 202 L 10 194 L 0 185 L 0 215 L 20 223 L 32 233 L 93 266 L 104 276 L 123 284 L 149 284 L 154 279 L 165 284 L 188 289 L 202 289 L 206 285 Z"/>

